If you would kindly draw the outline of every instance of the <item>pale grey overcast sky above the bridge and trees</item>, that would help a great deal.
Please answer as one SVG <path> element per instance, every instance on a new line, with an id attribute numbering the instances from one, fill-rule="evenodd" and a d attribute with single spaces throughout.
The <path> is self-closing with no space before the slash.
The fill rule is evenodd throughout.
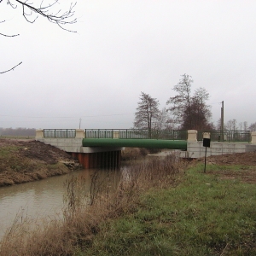
<path id="1" fill-rule="evenodd" d="M 75 10 L 72 33 L 0 3 L 0 32 L 20 34 L 0 37 L 0 71 L 23 62 L 0 74 L 0 127 L 131 128 L 141 91 L 164 108 L 183 73 L 209 92 L 214 124 L 222 101 L 225 122 L 256 122 L 256 1 L 78 0 Z"/>

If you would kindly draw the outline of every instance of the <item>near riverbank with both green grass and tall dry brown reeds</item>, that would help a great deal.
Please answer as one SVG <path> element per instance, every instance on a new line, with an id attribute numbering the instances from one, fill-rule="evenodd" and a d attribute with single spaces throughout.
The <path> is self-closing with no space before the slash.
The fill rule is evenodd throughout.
<path id="1" fill-rule="evenodd" d="M 190 167 L 177 158 L 131 170 L 116 193 L 94 182 L 91 207 L 68 183 L 64 221 L 9 232 L 4 255 L 255 255 L 256 188 L 240 180 L 250 166 Z M 229 177 L 222 177 L 225 170 Z M 95 180 L 96 181 L 96 180 Z M 19 229 L 18 229 L 19 230 Z M 17 236 L 18 235 L 18 236 Z M 24 237 L 29 242 L 24 242 Z"/>

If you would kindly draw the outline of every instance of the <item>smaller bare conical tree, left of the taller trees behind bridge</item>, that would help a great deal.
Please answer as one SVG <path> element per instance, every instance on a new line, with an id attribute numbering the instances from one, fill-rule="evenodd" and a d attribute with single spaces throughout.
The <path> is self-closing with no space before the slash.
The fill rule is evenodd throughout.
<path id="1" fill-rule="evenodd" d="M 151 131 L 158 123 L 160 110 L 159 102 L 142 92 L 140 102 L 137 103 L 137 112 L 135 113 L 134 127 L 139 129 L 148 129 Z"/>

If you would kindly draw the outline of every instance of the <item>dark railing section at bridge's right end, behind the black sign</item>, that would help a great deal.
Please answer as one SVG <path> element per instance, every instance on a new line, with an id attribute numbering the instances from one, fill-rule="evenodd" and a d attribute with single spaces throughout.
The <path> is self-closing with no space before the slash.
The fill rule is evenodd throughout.
<path id="1" fill-rule="evenodd" d="M 252 140 L 250 131 L 198 131 L 198 141 L 202 141 L 204 132 L 210 133 L 212 142 L 250 143 Z"/>

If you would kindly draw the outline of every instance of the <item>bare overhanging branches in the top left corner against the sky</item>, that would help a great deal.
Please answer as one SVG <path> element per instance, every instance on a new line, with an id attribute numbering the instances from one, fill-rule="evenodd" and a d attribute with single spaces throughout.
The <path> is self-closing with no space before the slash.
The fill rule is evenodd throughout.
<path id="1" fill-rule="evenodd" d="M 34 23 L 38 19 L 38 16 L 42 16 L 49 20 L 49 22 L 60 26 L 63 30 L 66 30 L 68 32 L 75 32 L 67 29 L 65 26 L 77 22 L 77 19 L 74 18 L 74 7 L 76 6 L 76 2 L 71 2 L 69 7 L 65 10 L 57 7 L 57 4 L 61 3 L 61 0 L 41 0 L 34 2 L 28 2 L 27 0 L 0 0 L 0 4 L 1 3 L 7 3 L 12 9 L 18 9 L 18 6 L 21 6 L 22 15 L 29 23 Z M 64 2 L 62 1 L 62 3 Z M 3 22 L 5 22 L 5 20 L 0 21 L 0 23 Z M 7 35 L 3 33 L 0 33 L 0 35 L 9 38 L 19 36 L 19 34 Z M 11 67 L 8 70 L 0 73 L 7 73 L 11 70 L 14 70 L 15 67 L 18 67 L 21 63 L 22 61 L 20 61 L 20 63 L 16 64 L 14 67 Z"/>

